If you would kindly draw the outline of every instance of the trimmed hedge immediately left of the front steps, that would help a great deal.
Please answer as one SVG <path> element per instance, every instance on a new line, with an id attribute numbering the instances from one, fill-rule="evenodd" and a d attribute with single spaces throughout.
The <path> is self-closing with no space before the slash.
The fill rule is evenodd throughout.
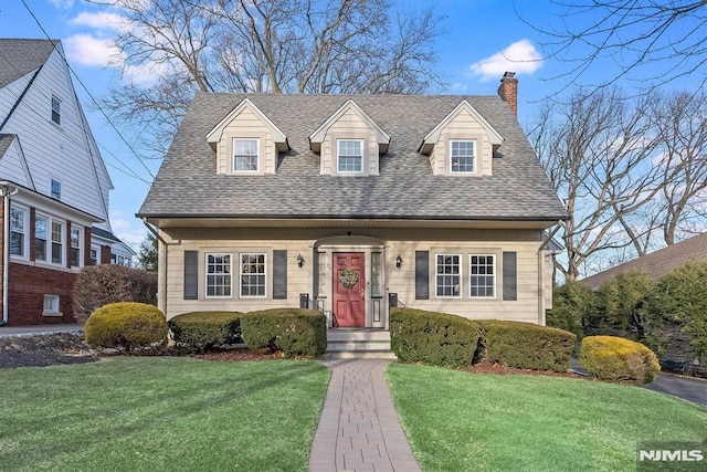
<path id="1" fill-rule="evenodd" d="M 327 317 L 303 308 L 273 308 L 241 317 L 243 340 L 249 347 L 267 347 L 285 357 L 316 357 L 327 349 Z"/>

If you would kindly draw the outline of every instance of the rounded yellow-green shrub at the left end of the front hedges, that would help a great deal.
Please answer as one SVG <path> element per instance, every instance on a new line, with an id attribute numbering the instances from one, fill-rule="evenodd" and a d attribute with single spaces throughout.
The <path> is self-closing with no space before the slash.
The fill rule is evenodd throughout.
<path id="1" fill-rule="evenodd" d="M 134 350 L 167 345 L 167 321 L 156 306 L 137 302 L 109 303 L 86 321 L 84 335 L 93 348 Z"/>

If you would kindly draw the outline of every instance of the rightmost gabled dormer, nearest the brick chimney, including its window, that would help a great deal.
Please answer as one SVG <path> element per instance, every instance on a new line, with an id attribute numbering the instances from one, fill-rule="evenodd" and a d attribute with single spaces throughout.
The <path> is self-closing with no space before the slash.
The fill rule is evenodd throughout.
<path id="1" fill-rule="evenodd" d="M 462 101 L 422 140 L 432 172 L 442 176 L 490 176 L 495 149 L 504 138 L 468 102 Z"/>

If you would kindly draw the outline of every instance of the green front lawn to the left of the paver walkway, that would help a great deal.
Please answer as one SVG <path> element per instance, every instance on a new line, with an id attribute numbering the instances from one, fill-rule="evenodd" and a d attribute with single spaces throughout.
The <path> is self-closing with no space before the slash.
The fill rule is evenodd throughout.
<path id="1" fill-rule="evenodd" d="M 0 370 L 0 469 L 306 471 L 328 379 L 179 357 Z"/>

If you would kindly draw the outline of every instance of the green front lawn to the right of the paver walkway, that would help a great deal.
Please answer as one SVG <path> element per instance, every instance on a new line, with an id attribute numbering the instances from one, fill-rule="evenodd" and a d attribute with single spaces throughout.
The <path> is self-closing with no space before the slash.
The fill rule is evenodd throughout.
<path id="1" fill-rule="evenodd" d="M 430 471 L 630 471 L 645 440 L 701 442 L 707 410 L 640 387 L 468 374 L 386 371 L 412 450 Z"/>

